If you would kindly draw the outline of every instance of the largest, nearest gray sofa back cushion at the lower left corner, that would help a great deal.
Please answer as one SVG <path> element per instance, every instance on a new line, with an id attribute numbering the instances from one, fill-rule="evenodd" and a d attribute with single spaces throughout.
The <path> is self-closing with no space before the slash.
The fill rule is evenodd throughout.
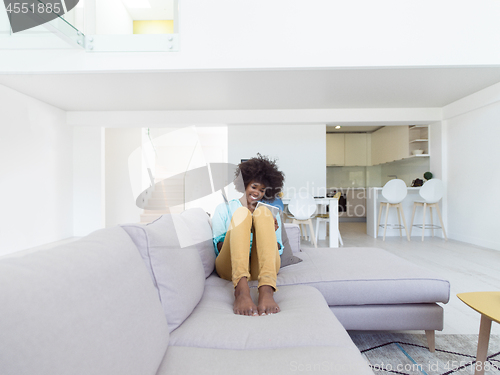
<path id="1" fill-rule="evenodd" d="M 168 327 L 119 227 L 0 261 L 2 374 L 154 375 Z"/>

